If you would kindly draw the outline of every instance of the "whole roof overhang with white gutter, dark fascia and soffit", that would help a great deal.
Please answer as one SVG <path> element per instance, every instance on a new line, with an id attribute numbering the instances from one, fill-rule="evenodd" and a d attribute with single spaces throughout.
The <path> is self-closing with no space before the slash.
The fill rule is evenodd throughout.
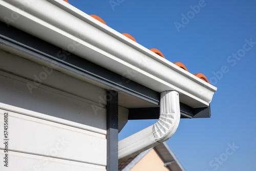
<path id="1" fill-rule="evenodd" d="M 26 2 L 0 1 L 0 20 L 29 33 L 13 30 L 15 40 L 8 37 L 11 29 L 2 30 L 7 34 L 2 34 L 2 48 L 26 51 L 23 57 L 42 64 L 55 61 L 60 72 L 119 91 L 119 103 L 134 108 L 129 119 L 158 118 L 159 94 L 166 90 L 179 92 L 182 117 L 210 117 L 209 103 L 216 87 L 62 0 Z M 48 44 L 53 45 L 51 50 Z M 56 54 L 60 50 L 71 53 L 61 59 Z M 139 116 L 140 110 L 151 115 Z"/>

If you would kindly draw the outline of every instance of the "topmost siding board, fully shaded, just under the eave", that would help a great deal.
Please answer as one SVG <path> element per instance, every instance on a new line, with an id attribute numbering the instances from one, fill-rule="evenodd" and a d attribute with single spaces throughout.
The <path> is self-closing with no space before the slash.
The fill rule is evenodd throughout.
<path id="1" fill-rule="evenodd" d="M 1 47 L 1 46 L 0 46 Z M 18 53 L 18 52 L 16 52 Z M 24 53 L 19 52 L 24 56 Z M 25 55 L 26 56 L 26 55 Z M 27 55 L 28 56 L 28 55 Z M 11 72 L 15 75 L 22 76 L 29 80 L 32 80 L 31 83 L 35 87 L 41 87 L 42 84 L 56 88 L 61 91 L 65 91 L 76 96 L 88 99 L 90 101 L 105 105 L 105 100 L 102 100 L 105 96 L 105 90 L 101 89 L 93 84 L 88 82 L 81 81 L 69 75 L 63 74 L 56 70 L 51 69 L 60 69 L 55 65 L 47 65 L 49 67 L 46 69 L 45 66 L 39 65 L 31 60 L 25 59 L 23 57 L 14 55 L 10 52 L 6 52 L 0 49 L 0 69 L 7 72 Z M 48 70 L 50 73 L 46 73 L 45 70 Z M 71 72 L 71 71 L 70 71 Z M 35 77 L 40 77 L 40 74 L 46 73 L 46 79 L 41 80 L 41 84 L 37 86 L 34 82 Z M 37 80 L 37 79 L 36 79 Z M 27 81 L 26 81 L 27 82 Z M 28 88 L 26 88 L 26 91 Z M 36 89 L 32 89 L 34 92 Z"/>

